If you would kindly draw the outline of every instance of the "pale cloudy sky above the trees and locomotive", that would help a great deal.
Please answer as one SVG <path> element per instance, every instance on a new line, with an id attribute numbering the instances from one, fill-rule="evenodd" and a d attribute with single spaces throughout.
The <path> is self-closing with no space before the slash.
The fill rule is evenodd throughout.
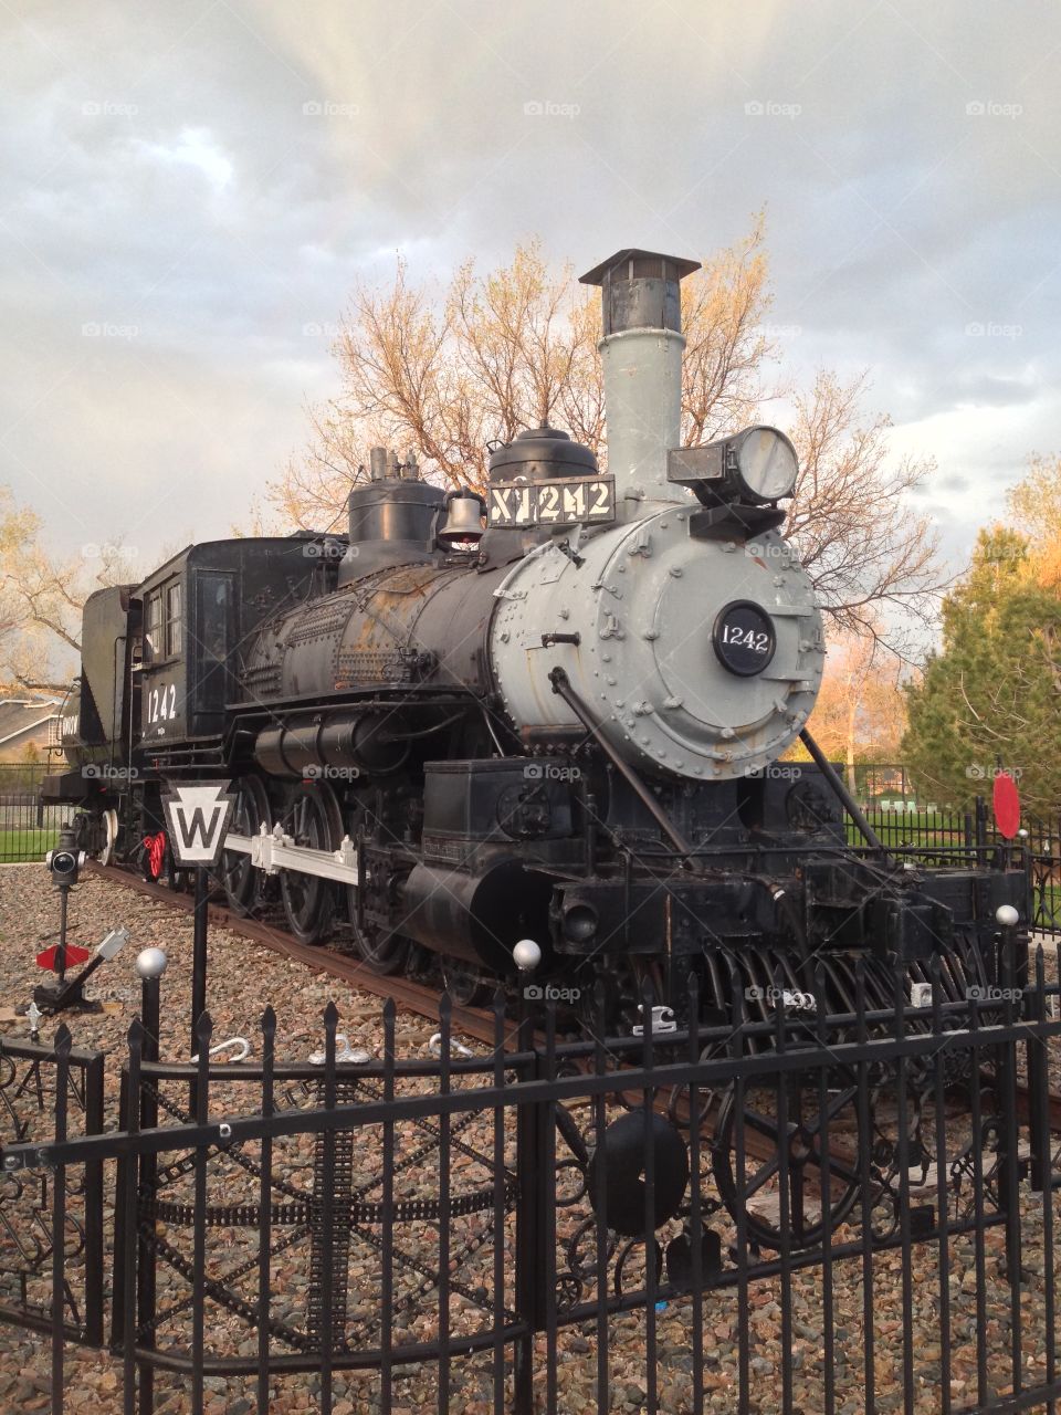
<path id="1" fill-rule="evenodd" d="M 403 252 L 703 256 L 768 208 L 785 371 L 869 368 L 961 556 L 1061 451 L 1038 0 L 4 0 L 0 483 L 57 548 L 228 533 Z"/>

